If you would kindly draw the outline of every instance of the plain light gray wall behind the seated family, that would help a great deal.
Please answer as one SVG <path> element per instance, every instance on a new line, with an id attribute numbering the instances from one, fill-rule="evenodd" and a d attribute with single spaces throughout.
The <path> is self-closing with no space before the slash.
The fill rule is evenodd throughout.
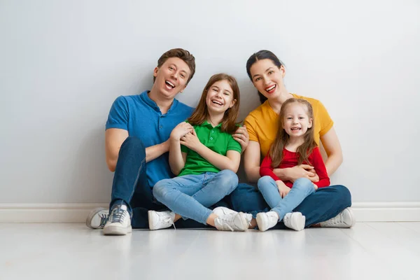
<path id="1" fill-rule="evenodd" d="M 108 202 L 104 124 L 150 89 L 158 57 L 186 48 L 197 104 L 217 72 L 258 105 L 246 59 L 269 49 L 290 92 L 320 99 L 354 202 L 419 201 L 419 1 L 0 1 L 0 202 Z"/>

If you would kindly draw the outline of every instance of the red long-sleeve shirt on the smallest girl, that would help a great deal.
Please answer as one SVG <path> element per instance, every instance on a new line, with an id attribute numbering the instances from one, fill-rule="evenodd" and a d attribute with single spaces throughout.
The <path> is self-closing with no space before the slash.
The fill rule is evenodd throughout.
<path id="1" fill-rule="evenodd" d="M 311 155 L 309 155 L 308 160 L 310 162 L 310 164 L 309 162 L 308 164 L 314 167 L 316 174 L 319 176 L 319 181 L 316 182 L 315 185 L 318 186 L 318 188 L 330 186 L 330 178 L 328 177 L 327 169 L 325 168 L 325 164 L 322 160 L 321 152 L 319 151 L 318 147 L 314 148 Z M 260 176 L 270 176 L 272 179 L 274 179 L 274 181 L 281 180 L 276 176 L 276 174 L 274 174 L 274 168 L 271 167 L 271 164 L 272 159 L 269 157 L 269 154 L 267 154 L 261 163 Z M 281 160 L 280 166 L 278 168 L 295 167 L 296 165 L 297 153 L 290 152 L 286 150 L 286 148 L 283 148 L 283 160 Z M 293 187 L 293 183 L 290 181 L 283 181 L 283 183 L 289 188 Z"/>

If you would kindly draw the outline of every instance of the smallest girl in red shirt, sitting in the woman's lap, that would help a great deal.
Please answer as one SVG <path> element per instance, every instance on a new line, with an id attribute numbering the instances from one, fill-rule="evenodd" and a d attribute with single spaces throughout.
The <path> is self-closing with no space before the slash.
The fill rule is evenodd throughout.
<path id="1" fill-rule="evenodd" d="M 257 224 L 261 231 L 274 227 L 281 220 L 288 228 L 303 230 L 305 217 L 300 212 L 290 212 L 318 188 L 330 186 L 312 127 L 314 113 L 309 102 L 290 98 L 283 103 L 276 139 L 260 167 L 258 189 L 272 208 L 267 213 L 257 215 Z M 306 178 L 297 179 L 294 183 L 281 181 L 273 172 L 276 168 L 302 164 L 314 167 L 319 176 L 318 182 L 312 183 Z"/>

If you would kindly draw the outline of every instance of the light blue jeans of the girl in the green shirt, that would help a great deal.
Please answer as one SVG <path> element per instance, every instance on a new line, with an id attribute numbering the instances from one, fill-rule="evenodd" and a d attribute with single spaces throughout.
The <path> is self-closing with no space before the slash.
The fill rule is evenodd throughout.
<path id="1" fill-rule="evenodd" d="M 207 225 L 211 214 L 207 207 L 230 195 L 237 186 L 237 174 L 226 169 L 158 181 L 153 187 L 153 196 L 183 219 L 190 218 Z"/>

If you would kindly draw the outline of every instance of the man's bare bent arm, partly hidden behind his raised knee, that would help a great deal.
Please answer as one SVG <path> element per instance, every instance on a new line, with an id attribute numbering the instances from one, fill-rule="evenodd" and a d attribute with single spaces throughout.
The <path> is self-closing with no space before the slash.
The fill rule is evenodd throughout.
<path id="1" fill-rule="evenodd" d="M 106 153 L 106 165 L 111 172 L 116 171 L 118 154 L 120 153 L 121 145 L 128 137 L 127 130 L 121 130 L 119 128 L 109 128 L 105 132 L 105 153 Z M 162 144 L 150 146 L 146 148 L 146 162 L 150 162 L 155 158 L 160 157 L 163 153 L 169 151 L 169 141 L 165 141 Z"/>

